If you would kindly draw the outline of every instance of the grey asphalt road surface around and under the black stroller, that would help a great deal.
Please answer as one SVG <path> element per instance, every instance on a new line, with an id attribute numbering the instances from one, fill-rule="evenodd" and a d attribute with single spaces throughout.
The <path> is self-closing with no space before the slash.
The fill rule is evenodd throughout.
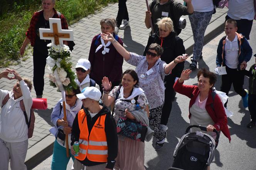
<path id="1" fill-rule="evenodd" d="M 256 30 L 256 22 L 253 23 L 253 30 Z M 207 68 L 214 71 L 216 67 L 216 49 L 221 37 L 225 34 L 221 33 L 211 42 L 204 46 L 203 60 L 199 62 L 199 68 Z M 256 33 L 251 32 L 251 40 L 249 40 L 253 48 L 253 53 L 256 53 Z M 254 57 L 248 62 L 248 65 L 254 63 Z M 186 62 L 185 68 L 189 67 Z M 249 69 L 249 68 L 248 68 Z M 186 84 L 197 84 L 196 73 L 193 72 L 190 80 Z M 220 76 L 215 85 L 216 89 L 220 88 Z M 245 78 L 244 87 L 248 87 L 248 78 Z M 219 146 L 215 152 L 215 158 L 211 164 L 211 170 L 256 170 L 256 128 L 248 129 L 246 125 L 249 123 L 248 108 L 243 108 L 241 97 L 237 95 L 233 88 L 230 92 L 228 109 L 234 112 L 234 116 L 228 118 L 229 130 L 231 133 L 231 143 L 221 134 Z M 147 170 L 166 170 L 172 165 L 173 151 L 179 142 L 180 138 L 189 126 L 188 104 L 189 98 L 177 94 L 177 99 L 173 102 L 173 109 L 168 122 L 169 130 L 167 131 L 167 140 L 162 150 L 156 152 L 152 147 L 152 141 L 145 143 L 145 167 Z M 155 140 L 153 141 L 155 142 Z M 44 170 L 51 167 L 51 158 L 47 158 L 40 163 L 35 170 Z M 69 162 L 69 169 L 72 161 Z"/>

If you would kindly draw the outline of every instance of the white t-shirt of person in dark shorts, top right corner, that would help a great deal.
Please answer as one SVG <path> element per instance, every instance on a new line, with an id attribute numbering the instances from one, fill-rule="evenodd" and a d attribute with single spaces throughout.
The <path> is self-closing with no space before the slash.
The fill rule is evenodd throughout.
<path id="1" fill-rule="evenodd" d="M 192 0 L 193 2 L 194 0 Z M 254 0 L 229 0 L 227 15 L 234 19 L 254 19 Z"/>

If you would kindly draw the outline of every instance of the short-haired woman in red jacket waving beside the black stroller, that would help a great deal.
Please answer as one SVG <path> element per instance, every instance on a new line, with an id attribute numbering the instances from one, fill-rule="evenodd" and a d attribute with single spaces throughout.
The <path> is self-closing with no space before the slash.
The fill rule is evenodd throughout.
<path id="1" fill-rule="evenodd" d="M 227 127 L 227 116 L 221 102 L 221 99 L 216 94 L 212 97 L 212 87 L 217 78 L 214 73 L 205 69 L 199 70 L 197 73 L 198 84 L 183 85 L 184 80 L 189 79 L 192 71 L 183 70 L 179 80 L 173 86 L 174 90 L 180 94 L 186 95 L 191 100 L 189 102 L 189 119 L 190 125 L 202 125 L 207 127 L 207 132 L 214 139 L 216 133 L 214 129 L 223 132 L 223 134 L 231 141 L 229 129 Z M 200 131 L 199 128 L 192 129 L 192 132 Z"/>

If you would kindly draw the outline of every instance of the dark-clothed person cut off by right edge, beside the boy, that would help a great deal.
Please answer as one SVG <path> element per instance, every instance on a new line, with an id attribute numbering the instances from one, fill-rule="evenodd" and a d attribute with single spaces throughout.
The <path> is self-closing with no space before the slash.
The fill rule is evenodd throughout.
<path id="1" fill-rule="evenodd" d="M 246 70 L 246 75 L 249 77 L 249 97 L 248 108 L 251 115 L 251 122 L 247 125 L 248 128 L 252 128 L 256 125 L 256 54 L 255 64 L 250 67 L 250 70 Z"/>

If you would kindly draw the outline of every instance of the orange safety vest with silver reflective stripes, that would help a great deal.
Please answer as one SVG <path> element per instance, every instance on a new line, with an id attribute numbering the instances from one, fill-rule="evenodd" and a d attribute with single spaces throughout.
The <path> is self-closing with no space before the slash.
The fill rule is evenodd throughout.
<path id="1" fill-rule="evenodd" d="M 80 136 L 79 155 L 75 158 L 84 160 L 87 157 L 88 160 L 93 162 L 107 162 L 108 144 L 105 133 L 106 114 L 98 117 L 93 125 L 91 133 L 88 131 L 86 113 L 84 113 L 84 110 L 80 110 L 77 117 Z"/>

